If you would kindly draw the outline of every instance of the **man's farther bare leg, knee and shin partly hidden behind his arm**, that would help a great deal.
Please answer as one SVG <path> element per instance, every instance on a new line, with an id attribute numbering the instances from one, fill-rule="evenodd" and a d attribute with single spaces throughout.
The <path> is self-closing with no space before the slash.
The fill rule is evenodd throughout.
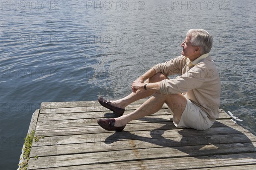
<path id="1" fill-rule="evenodd" d="M 154 82 L 162 81 L 164 79 L 168 79 L 168 78 L 165 75 L 163 75 L 163 73 L 157 73 L 153 77 L 146 80 L 145 82 L 154 83 Z M 142 98 L 146 98 L 153 94 L 154 94 L 154 92 L 151 92 L 148 90 L 144 90 L 144 89 L 138 90 L 136 93 L 132 92 L 131 94 L 129 94 L 128 96 L 126 96 L 122 99 L 113 101 L 111 103 L 111 105 L 124 109 L 129 104 L 133 103 L 134 101 L 140 100 Z"/>

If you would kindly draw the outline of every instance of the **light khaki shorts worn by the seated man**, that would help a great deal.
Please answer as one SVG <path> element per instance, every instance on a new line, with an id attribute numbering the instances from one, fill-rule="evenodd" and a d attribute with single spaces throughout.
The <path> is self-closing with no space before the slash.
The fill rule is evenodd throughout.
<path id="1" fill-rule="evenodd" d="M 196 130 L 206 130 L 214 123 L 210 121 L 207 114 L 196 104 L 187 99 L 186 108 L 181 115 L 180 122 L 176 120 L 173 114 L 173 123 L 176 127 L 188 127 Z"/>

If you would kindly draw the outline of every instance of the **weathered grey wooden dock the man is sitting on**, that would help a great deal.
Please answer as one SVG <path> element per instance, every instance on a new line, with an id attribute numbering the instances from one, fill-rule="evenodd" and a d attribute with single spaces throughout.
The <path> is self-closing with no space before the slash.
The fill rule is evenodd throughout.
<path id="1" fill-rule="evenodd" d="M 130 104 L 125 114 L 143 101 Z M 175 127 L 163 105 L 115 133 L 96 123 L 114 116 L 98 101 L 42 103 L 29 131 L 44 137 L 33 141 L 28 170 L 255 170 L 256 136 L 220 112 L 201 131 Z"/>

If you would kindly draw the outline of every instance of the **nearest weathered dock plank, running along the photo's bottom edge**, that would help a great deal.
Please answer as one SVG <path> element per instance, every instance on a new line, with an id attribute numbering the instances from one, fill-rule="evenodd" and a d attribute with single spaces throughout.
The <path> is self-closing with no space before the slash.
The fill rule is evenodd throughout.
<path id="1" fill-rule="evenodd" d="M 118 163 L 113 162 L 108 164 L 90 164 L 71 167 L 56 167 L 51 168 L 51 170 L 178 170 L 195 168 L 204 168 L 203 170 L 215 170 L 215 168 L 218 170 L 254 170 L 255 158 L 255 153 L 243 153 L 242 157 L 240 154 L 232 154 L 183 158 L 166 158 L 155 160 L 125 161 Z"/>

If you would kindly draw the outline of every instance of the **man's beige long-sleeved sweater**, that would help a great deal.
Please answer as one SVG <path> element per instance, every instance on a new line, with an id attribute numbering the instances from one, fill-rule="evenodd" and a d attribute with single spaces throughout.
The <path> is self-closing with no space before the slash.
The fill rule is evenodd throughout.
<path id="1" fill-rule="evenodd" d="M 162 94 L 182 93 L 201 107 L 211 121 L 215 121 L 219 117 L 221 81 L 210 55 L 198 59 L 192 62 L 195 66 L 189 67 L 189 59 L 181 55 L 152 68 L 166 76 L 180 74 L 174 79 L 161 81 Z"/>

